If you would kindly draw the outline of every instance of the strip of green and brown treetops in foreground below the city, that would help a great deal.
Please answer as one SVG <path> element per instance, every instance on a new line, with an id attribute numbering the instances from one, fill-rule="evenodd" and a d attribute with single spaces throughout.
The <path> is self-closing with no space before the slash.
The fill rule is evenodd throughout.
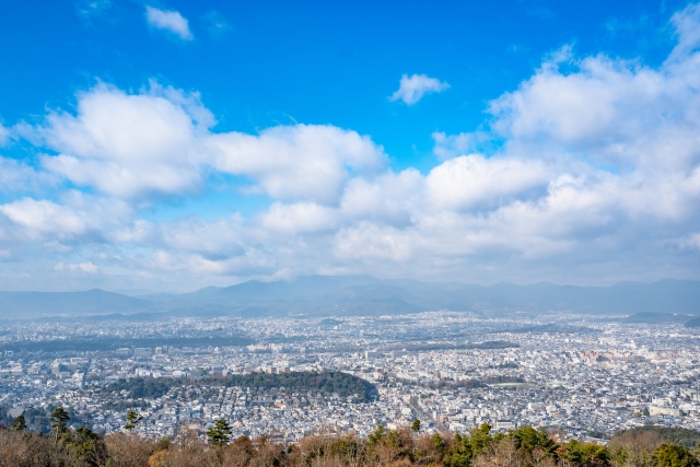
<path id="1" fill-rule="evenodd" d="M 700 467 L 695 447 L 668 441 L 675 436 L 689 444 L 698 434 L 690 430 L 630 430 L 608 446 L 560 443 L 530 427 L 504 434 L 490 430 L 483 424 L 468 435 L 419 434 L 417 420 L 399 430 L 377 427 L 368 439 L 327 434 L 282 445 L 231 440 L 223 420 L 207 431 L 206 441 L 194 432 L 158 441 L 122 433 L 103 437 L 86 428 L 69 430 L 60 420 L 46 435 L 26 430 L 20 420 L 0 430 L 0 467 Z"/>

